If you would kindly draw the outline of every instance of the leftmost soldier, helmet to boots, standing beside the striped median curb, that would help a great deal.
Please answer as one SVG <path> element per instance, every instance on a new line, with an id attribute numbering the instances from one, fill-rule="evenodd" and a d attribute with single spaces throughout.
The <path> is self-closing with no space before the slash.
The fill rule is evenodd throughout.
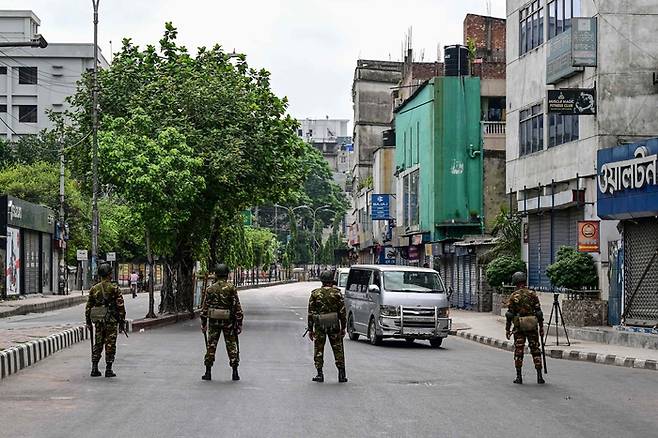
<path id="1" fill-rule="evenodd" d="M 96 329 L 94 347 L 91 353 L 91 377 L 101 375 L 98 362 L 101 360 L 105 347 L 105 377 L 115 377 L 112 363 L 117 350 L 118 327 L 123 326 L 126 319 L 126 308 L 123 305 L 123 295 L 115 284 L 112 284 L 112 267 L 103 263 L 98 268 L 101 281 L 89 291 L 89 299 L 85 309 L 87 328 L 92 332 Z"/>

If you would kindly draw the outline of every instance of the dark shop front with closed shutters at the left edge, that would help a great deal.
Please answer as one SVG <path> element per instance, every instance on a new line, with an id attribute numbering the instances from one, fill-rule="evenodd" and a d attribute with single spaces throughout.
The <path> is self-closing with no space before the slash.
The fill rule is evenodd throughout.
<path id="1" fill-rule="evenodd" d="M 5 267 L 0 295 L 52 293 L 55 213 L 12 196 L 0 197 L 0 211 L 0 231 L 5 236 L 0 249 Z"/>

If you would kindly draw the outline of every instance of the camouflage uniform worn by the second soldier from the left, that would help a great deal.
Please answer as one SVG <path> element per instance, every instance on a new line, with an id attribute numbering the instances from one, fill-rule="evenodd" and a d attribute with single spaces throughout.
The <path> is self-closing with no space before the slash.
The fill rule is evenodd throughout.
<path id="1" fill-rule="evenodd" d="M 226 321 L 210 319 L 208 324 L 208 346 L 204 364 L 212 366 L 215 362 L 215 352 L 219 336 L 224 333 L 226 353 L 229 357 L 231 367 L 237 367 L 240 363 L 240 350 L 238 348 L 238 331 L 242 330 L 242 306 L 238 298 L 238 290 L 231 283 L 220 280 L 206 289 L 206 294 L 201 307 L 201 324 L 206 326 L 208 321 L 208 309 L 226 309 L 231 312 L 231 319 Z"/>

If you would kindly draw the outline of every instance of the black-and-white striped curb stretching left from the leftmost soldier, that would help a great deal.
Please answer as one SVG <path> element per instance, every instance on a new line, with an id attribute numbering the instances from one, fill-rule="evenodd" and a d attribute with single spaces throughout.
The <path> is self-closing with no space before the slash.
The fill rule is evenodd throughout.
<path id="1" fill-rule="evenodd" d="M 89 332 L 86 327 L 79 326 L 2 350 L 0 351 L 0 380 L 85 339 L 89 339 Z"/>

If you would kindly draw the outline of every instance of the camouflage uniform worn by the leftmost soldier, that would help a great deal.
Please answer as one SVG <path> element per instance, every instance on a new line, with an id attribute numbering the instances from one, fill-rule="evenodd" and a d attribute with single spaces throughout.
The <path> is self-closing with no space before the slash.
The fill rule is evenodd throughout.
<path id="1" fill-rule="evenodd" d="M 91 288 L 85 309 L 85 320 L 89 327 L 92 324 L 91 308 L 97 306 L 107 307 L 108 312 L 104 322 L 94 324 L 96 335 L 91 360 L 99 362 L 103 348 L 105 348 L 105 361 L 112 363 L 117 351 L 118 324 L 123 324 L 126 319 L 126 308 L 123 305 L 123 295 L 119 287 L 104 279 Z"/>

